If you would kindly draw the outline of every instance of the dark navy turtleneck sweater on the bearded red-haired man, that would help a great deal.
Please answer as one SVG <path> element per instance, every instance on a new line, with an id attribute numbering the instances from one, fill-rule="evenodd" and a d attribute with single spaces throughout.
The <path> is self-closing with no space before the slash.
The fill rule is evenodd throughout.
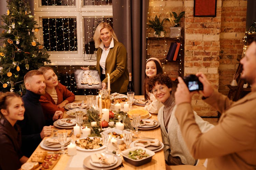
<path id="1" fill-rule="evenodd" d="M 39 102 L 40 95 L 27 90 L 22 99 L 25 107 L 24 120 L 17 123 L 22 131 L 22 152 L 25 156 L 30 157 L 42 141 L 40 133 L 43 127 L 52 124 L 53 121 L 45 121 Z"/>

